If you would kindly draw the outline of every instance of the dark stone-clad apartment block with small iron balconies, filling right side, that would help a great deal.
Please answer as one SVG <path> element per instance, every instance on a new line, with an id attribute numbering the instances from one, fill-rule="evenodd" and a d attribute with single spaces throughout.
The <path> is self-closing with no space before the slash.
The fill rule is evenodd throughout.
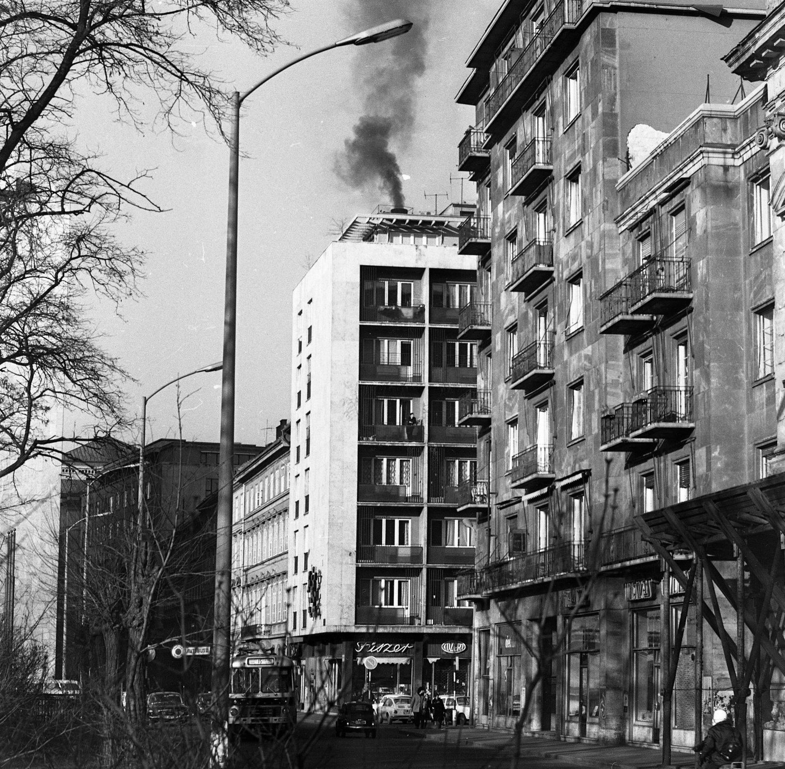
<path id="1" fill-rule="evenodd" d="M 666 753 L 726 705 L 785 754 L 763 16 L 510 0 L 469 57 L 476 723 Z"/>

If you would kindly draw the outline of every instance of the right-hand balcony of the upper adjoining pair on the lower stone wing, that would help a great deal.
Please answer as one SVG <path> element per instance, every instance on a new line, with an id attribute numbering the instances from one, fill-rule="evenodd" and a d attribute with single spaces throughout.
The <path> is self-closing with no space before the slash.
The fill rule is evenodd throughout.
<path id="1" fill-rule="evenodd" d="M 653 258 L 630 275 L 633 315 L 673 315 L 692 302 L 689 259 Z"/>

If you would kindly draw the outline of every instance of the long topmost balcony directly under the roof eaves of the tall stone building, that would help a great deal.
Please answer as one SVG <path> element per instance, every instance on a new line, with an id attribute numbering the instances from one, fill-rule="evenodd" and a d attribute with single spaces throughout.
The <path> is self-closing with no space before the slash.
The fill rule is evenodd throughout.
<path id="1" fill-rule="evenodd" d="M 564 39 L 582 13 L 582 0 L 558 2 L 542 26 L 532 36 L 485 103 L 485 131 L 500 134 L 506 123 L 520 115 L 520 108 L 530 95 L 525 82 L 540 82 L 564 59 L 568 41 Z M 557 42 L 562 43 L 557 45 Z M 502 125 L 504 124 L 504 125 Z"/>

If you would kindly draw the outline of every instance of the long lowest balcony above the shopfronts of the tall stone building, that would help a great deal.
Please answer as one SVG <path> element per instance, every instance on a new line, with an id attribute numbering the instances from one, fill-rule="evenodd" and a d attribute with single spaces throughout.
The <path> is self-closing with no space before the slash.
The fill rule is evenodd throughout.
<path id="1" fill-rule="evenodd" d="M 484 593 L 516 588 L 527 583 L 577 577 L 586 571 L 585 546 L 568 542 L 499 561 L 482 571 Z M 460 595 L 460 589 L 458 589 Z"/>

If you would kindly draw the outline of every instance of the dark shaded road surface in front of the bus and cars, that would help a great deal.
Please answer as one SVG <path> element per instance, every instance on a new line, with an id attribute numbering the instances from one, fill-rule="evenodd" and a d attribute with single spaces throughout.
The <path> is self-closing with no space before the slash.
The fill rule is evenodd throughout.
<path id="1" fill-rule="evenodd" d="M 363 734 L 338 738 L 332 719 L 321 728 L 316 723 L 299 723 L 294 740 L 286 746 L 243 742 L 235 754 L 235 769 L 506 769 L 512 755 L 505 745 L 458 745 L 449 730 L 436 734 L 398 724 L 378 727 L 376 738 Z M 444 738 L 443 738 L 444 735 Z M 464 741 L 465 742 L 465 741 Z M 553 760 L 526 758 L 526 769 L 562 769 Z"/>

